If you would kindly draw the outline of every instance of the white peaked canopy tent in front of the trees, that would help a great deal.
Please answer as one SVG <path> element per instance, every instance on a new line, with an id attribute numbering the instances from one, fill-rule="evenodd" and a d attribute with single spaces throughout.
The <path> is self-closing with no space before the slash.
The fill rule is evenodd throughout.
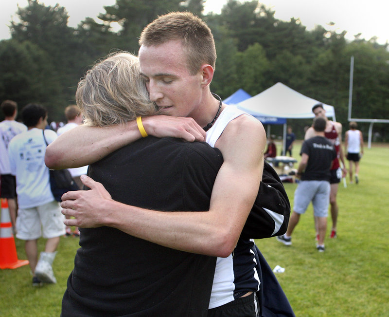
<path id="1" fill-rule="evenodd" d="M 277 118 L 314 118 L 312 107 L 321 103 L 326 116 L 331 117 L 334 121 L 335 110 L 333 106 L 324 104 L 316 99 L 307 97 L 283 83 L 277 84 L 266 89 L 262 93 L 243 100 L 237 104 L 237 107 L 256 117 L 267 116 Z M 283 125 L 283 142 L 286 137 L 286 123 Z M 283 145 L 284 147 L 284 145 Z"/>

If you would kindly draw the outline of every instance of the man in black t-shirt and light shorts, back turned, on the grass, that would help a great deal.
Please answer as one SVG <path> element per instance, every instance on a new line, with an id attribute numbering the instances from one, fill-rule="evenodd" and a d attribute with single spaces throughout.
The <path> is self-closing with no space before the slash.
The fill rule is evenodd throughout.
<path id="1" fill-rule="evenodd" d="M 314 214 L 318 217 L 319 239 L 316 248 L 324 251 L 324 236 L 327 230 L 327 214 L 330 197 L 330 168 L 336 158 L 334 145 L 324 136 L 326 120 L 317 117 L 313 128 L 315 136 L 304 141 L 301 147 L 301 162 L 297 169 L 297 177 L 301 182 L 296 188 L 293 213 L 288 229 L 277 240 L 285 245 L 291 245 L 291 235 L 299 223 L 300 215 L 305 212 L 312 201 Z"/>

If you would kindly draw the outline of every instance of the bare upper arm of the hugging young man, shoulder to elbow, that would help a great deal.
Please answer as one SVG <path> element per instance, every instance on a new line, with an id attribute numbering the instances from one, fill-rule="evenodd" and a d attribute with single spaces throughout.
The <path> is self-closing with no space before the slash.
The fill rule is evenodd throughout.
<path id="1" fill-rule="evenodd" d="M 235 247 L 258 195 L 265 146 L 262 124 L 246 115 L 232 120 L 215 144 L 224 163 L 213 187 L 210 210 L 225 217 L 219 238 L 224 237 L 227 249 Z"/>

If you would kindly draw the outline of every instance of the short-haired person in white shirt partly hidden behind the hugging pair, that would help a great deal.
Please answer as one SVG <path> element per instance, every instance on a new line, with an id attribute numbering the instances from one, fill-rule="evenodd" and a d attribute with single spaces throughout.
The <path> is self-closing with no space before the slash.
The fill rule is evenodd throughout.
<path id="1" fill-rule="evenodd" d="M 78 106 L 76 105 L 70 105 L 66 107 L 65 116 L 66 119 L 68 120 L 68 123 L 58 129 L 57 131 L 58 136 L 82 124 L 84 120 L 83 115 L 80 112 L 80 108 L 78 108 Z M 81 175 L 87 174 L 88 166 L 82 166 L 80 168 L 68 168 L 68 169 L 71 173 L 71 177 L 73 178 L 74 182 L 77 184 L 78 188 L 82 189 L 84 184 L 81 182 L 80 177 Z M 66 216 L 66 219 L 70 219 L 70 217 Z M 78 230 L 78 227 L 75 227 L 74 232 L 71 232 L 71 227 L 66 226 L 66 235 L 67 236 L 74 235 L 75 237 L 79 237 L 80 231 Z"/>

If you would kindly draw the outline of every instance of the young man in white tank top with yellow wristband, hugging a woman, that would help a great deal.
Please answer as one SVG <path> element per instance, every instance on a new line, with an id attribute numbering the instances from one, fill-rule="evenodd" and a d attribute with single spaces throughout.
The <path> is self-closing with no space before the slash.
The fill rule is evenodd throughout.
<path id="1" fill-rule="evenodd" d="M 190 44 L 188 34 L 182 30 L 173 33 L 173 37 L 166 36 L 166 32 L 172 30 L 161 35 L 161 28 L 171 26 L 170 22 L 173 22 L 173 28 L 176 28 L 177 19 L 184 22 L 179 25 L 195 23 L 196 28 L 206 30 L 201 35 L 203 41 L 198 41 L 196 37 L 196 43 L 192 47 L 193 43 Z M 92 190 L 67 193 L 63 197 L 63 212 L 75 217 L 66 221 L 66 224 L 82 227 L 108 225 L 174 249 L 225 258 L 225 262 L 221 261 L 226 263 L 223 265 L 226 269 L 216 269 L 215 272 L 215 276 L 221 279 L 219 285 L 223 286 L 221 290 L 218 289 L 220 292 L 214 297 L 214 301 L 211 296 L 210 308 L 247 297 L 251 300 L 250 304 L 255 306 L 254 293 L 258 289 L 258 281 L 254 288 L 249 288 L 239 295 L 234 294 L 236 283 L 231 270 L 231 254 L 240 241 L 242 229 L 258 195 L 264 169 L 265 130 L 252 116 L 241 115 L 243 112 L 232 117 L 227 116 L 225 124 L 221 124 L 229 107 L 221 103 L 220 97 L 216 96 L 219 100 L 215 99 L 210 90 L 216 55 L 211 31 L 201 19 L 190 13 L 172 13 L 159 17 L 142 32 L 140 43 L 141 73 L 146 80 L 150 99 L 156 103 L 162 114 L 166 114 L 142 118 L 143 130 L 146 132 L 144 135 L 143 131 L 142 135 L 204 141 L 204 130 L 209 130 L 207 142 L 220 149 L 224 158 L 213 186 L 210 210 L 162 215 L 159 212 L 119 204 L 110 199 L 101 184 L 84 177 L 83 183 Z M 204 47 L 200 47 L 201 45 Z M 193 54 L 202 56 L 201 61 L 192 58 Z M 201 127 L 204 127 L 204 130 Z M 213 134 L 212 131 L 216 129 L 218 130 Z M 52 168 L 70 168 L 93 163 L 113 150 L 139 139 L 141 132 L 136 122 L 129 122 L 126 126 L 109 129 L 76 127 L 66 132 L 66 138 L 61 137 L 47 152 L 46 164 Z M 69 144 L 73 145 L 74 150 L 72 160 L 69 160 L 64 151 Z M 95 196 L 93 199 L 82 199 L 93 207 L 78 200 L 84 195 Z M 77 207 L 73 206 L 75 208 L 71 209 L 76 200 Z M 100 203 L 103 205 L 97 206 Z M 111 210 L 110 215 L 106 214 L 107 208 Z M 92 217 L 83 212 L 87 209 L 93 209 Z M 284 210 L 281 214 L 268 210 L 265 214 L 271 219 L 271 230 L 267 237 L 283 234 L 289 212 L 284 215 Z M 231 314 L 220 316 L 240 316 Z M 256 316 L 258 312 L 255 307 L 250 314 L 242 316 Z"/>

